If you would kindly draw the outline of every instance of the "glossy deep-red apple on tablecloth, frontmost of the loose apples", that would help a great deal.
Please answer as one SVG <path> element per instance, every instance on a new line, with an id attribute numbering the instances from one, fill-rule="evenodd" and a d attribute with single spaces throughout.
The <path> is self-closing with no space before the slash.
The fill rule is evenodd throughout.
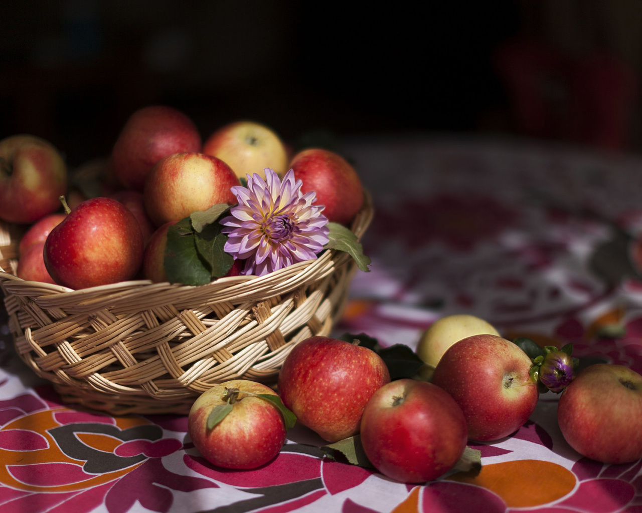
<path id="1" fill-rule="evenodd" d="M 437 479 L 462 457 L 468 431 L 461 408 L 432 383 L 401 379 L 372 394 L 361 445 L 383 475 L 405 483 Z"/>

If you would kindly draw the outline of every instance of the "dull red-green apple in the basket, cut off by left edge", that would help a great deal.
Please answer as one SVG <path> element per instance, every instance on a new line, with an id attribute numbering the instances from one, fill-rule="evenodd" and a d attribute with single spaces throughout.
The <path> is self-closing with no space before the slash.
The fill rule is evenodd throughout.
<path id="1" fill-rule="evenodd" d="M 0 219 L 34 223 L 60 208 L 67 166 L 51 143 L 33 135 L 0 140 Z"/>

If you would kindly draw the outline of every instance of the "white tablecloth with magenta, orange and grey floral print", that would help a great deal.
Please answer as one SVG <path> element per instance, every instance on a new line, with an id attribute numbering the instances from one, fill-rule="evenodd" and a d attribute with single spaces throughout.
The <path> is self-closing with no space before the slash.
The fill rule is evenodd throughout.
<path id="1" fill-rule="evenodd" d="M 413 137 L 345 142 L 376 204 L 336 335 L 415 347 L 443 315 L 507 338 L 573 342 L 575 356 L 642 373 L 642 157 L 534 142 Z M 580 457 L 542 394 L 514 435 L 471 444 L 476 476 L 406 485 L 324 458 L 295 427 L 253 471 L 198 455 L 184 416 L 112 417 L 66 407 L 15 356 L 0 310 L 0 511 L 642 512 L 642 462 Z M 641 419 L 642 428 L 642 419 Z"/>

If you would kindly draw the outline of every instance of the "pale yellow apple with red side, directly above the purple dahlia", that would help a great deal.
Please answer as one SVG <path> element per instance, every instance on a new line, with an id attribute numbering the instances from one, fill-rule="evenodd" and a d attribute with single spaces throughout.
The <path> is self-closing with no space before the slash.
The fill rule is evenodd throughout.
<path id="1" fill-rule="evenodd" d="M 223 160 L 239 178 L 256 173 L 265 179 L 266 168 L 281 176 L 287 171 L 283 142 L 273 130 L 254 121 L 236 121 L 214 131 L 205 140 L 203 153 Z"/>

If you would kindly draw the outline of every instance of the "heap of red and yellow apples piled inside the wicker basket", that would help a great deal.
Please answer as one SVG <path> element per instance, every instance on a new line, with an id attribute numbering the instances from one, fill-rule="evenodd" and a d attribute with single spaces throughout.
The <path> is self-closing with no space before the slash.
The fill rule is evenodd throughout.
<path id="1" fill-rule="evenodd" d="M 71 289 L 166 282 L 169 226 L 213 205 L 235 205 L 232 187 L 268 168 L 280 176 L 292 169 L 301 192 L 314 191 L 334 223 L 349 225 L 363 205 L 360 178 L 342 156 L 320 148 L 293 155 L 252 121 L 227 124 L 203 142 L 195 123 L 169 106 L 134 112 L 111 155 L 73 174 L 45 140 L 1 140 L 0 220 L 25 228 L 17 276 Z"/>

